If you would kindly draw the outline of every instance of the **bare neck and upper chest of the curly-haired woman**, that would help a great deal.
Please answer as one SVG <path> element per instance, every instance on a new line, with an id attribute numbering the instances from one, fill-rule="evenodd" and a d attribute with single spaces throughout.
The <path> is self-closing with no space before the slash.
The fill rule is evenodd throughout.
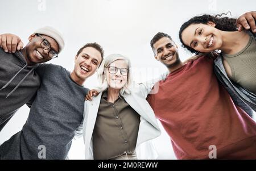
<path id="1" fill-rule="evenodd" d="M 245 31 L 221 31 L 221 35 L 222 45 L 220 50 L 226 54 L 239 52 L 250 38 Z"/>

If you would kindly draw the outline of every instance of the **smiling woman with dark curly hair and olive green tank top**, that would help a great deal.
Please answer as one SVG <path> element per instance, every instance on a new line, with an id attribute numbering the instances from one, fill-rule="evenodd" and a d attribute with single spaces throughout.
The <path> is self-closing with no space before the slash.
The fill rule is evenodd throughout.
<path id="1" fill-rule="evenodd" d="M 180 28 L 180 41 L 184 48 L 196 54 L 221 51 L 214 66 L 217 77 L 234 102 L 238 97 L 255 111 L 255 34 L 237 31 L 236 19 L 222 15 L 205 14 L 189 19 Z M 245 104 L 238 102 L 238 105 Z"/>

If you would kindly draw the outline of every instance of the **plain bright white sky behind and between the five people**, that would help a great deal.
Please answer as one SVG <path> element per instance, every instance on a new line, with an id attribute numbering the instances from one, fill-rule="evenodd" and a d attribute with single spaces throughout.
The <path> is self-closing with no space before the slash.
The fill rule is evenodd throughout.
<path id="1" fill-rule="evenodd" d="M 179 46 L 181 60 L 185 60 L 191 54 L 180 47 L 178 31 L 186 20 L 203 13 L 228 11 L 237 18 L 255 9 L 255 0 L 0 0 L 0 33 L 19 35 L 26 44 L 28 36 L 37 28 L 54 27 L 63 33 L 65 48 L 59 58 L 50 61 L 53 64 L 72 70 L 78 49 L 97 42 L 104 48 L 105 56 L 121 53 L 130 57 L 133 70 L 140 73 L 135 80 L 144 81 L 166 71 L 154 59 L 150 47 L 150 40 L 157 32 L 171 35 Z M 96 77 L 92 76 L 85 86 L 93 87 L 95 82 Z M 0 144 L 21 130 L 28 112 L 28 107 L 23 106 L 14 115 L 0 132 Z M 159 159 L 175 159 L 164 130 L 156 140 L 156 148 Z M 69 158 L 84 159 L 82 138 L 73 141 Z"/>

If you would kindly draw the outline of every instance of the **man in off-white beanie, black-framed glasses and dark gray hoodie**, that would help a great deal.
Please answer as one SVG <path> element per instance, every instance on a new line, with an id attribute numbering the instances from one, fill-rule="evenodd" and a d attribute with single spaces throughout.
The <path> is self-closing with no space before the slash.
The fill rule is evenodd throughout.
<path id="1" fill-rule="evenodd" d="M 0 39 L 7 45 L 11 45 L 10 41 L 15 43 L 10 37 L 0 36 Z M 0 131 L 21 106 L 31 106 L 40 86 L 35 68 L 57 57 L 64 48 L 62 36 L 51 27 L 39 28 L 28 40 L 26 47 L 15 53 L 7 53 L 6 44 L 0 48 Z"/>

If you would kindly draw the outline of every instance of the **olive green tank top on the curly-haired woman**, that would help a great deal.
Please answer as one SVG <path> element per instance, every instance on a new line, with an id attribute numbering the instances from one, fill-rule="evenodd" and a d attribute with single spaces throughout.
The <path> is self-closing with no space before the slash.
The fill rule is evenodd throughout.
<path id="1" fill-rule="evenodd" d="M 256 94 L 256 40 L 253 34 L 245 48 L 234 55 L 222 53 L 232 70 L 232 80 Z"/>

